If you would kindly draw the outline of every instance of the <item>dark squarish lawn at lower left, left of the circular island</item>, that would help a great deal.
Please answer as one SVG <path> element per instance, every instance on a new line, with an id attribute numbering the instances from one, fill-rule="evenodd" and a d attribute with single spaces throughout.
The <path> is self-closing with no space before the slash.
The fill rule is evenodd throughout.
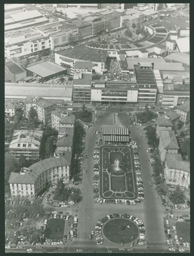
<path id="1" fill-rule="evenodd" d="M 65 220 L 50 219 L 46 229 L 46 238 L 52 240 L 61 240 L 64 236 Z"/>

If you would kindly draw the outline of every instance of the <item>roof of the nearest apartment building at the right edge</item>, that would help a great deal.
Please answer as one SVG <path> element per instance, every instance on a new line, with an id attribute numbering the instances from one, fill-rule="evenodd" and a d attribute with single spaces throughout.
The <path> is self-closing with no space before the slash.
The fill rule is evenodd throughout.
<path id="1" fill-rule="evenodd" d="M 166 164 L 169 169 L 190 172 L 190 162 L 184 161 L 181 154 L 166 154 Z"/>

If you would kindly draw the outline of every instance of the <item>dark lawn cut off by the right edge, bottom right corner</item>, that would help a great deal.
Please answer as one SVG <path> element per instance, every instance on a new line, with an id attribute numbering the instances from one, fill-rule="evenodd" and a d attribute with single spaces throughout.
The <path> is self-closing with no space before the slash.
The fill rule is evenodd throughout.
<path id="1" fill-rule="evenodd" d="M 177 230 L 177 236 L 180 240 L 180 237 L 183 238 L 182 242 L 188 242 L 190 243 L 190 223 L 188 222 L 176 222 L 176 230 Z"/>

